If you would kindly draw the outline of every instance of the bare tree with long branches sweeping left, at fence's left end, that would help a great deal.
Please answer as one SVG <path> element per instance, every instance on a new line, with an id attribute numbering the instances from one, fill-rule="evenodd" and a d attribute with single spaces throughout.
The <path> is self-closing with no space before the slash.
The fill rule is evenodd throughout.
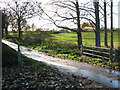
<path id="1" fill-rule="evenodd" d="M 46 10 L 42 9 L 41 6 L 38 5 L 39 9 L 43 11 L 43 13 L 48 17 L 44 18 L 45 20 L 49 20 L 52 23 L 54 23 L 55 26 L 58 28 L 63 28 L 64 30 L 71 30 L 77 32 L 78 36 L 78 48 L 80 49 L 80 46 L 82 45 L 82 36 L 81 32 L 84 31 L 80 27 L 80 21 L 81 19 L 85 19 L 88 22 L 90 22 L 91 26 L 94 26 L 95 23 L 92 19 L 86 17 L 85 15 L 82 15 L 80 11 L 87 11 L 89 14 L 91 12 L 94 12 L 94 9 L 90 9 L 88 7 L 81 7 L 79 6 L 78 0 L 53 0 L 53 2 L 50 4 L 53 7 L 53 10 L 50 11 L 50 13 L 53 13 L 53 16 L 49 15 L 49 12 L 46 12 Z M 91 14 L 92 16 L 92 14 Z M 40 15 L 41 17 L 41 15 Z M 94 17 L 94 16 L 92 16 Z M 66 24 L 69 23 L 69 24 Z M 72 27 L 74 26 L 74 27 Z M 75 27 L 77 26 L 77 27 Z M 76 29 L 77 28 L 77 29 Z"/>

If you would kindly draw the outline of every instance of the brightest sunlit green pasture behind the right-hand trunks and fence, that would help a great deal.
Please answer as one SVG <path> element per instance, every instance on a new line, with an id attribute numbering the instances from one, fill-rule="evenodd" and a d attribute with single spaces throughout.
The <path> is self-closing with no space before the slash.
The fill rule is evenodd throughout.
<path id="1" fill-rule="evenodd" d="M 113 33 L 113 42 L 114 47 L 118 48 L 118 32 L 120 31 L 114 31 Z M 56 42 L 67 42 L 77 45 L 77 34 L 76 33 L 59 33 L 59 34 L 50 34 L 52 35 L 52 38 Z M 104 32 L 100 33 L 100 40 L 101 40 L 101 46 L 104 46 Z M 47 38 L 49 39 L 49 38 Z M 108 45 L 110 45 L 110 32 L 108 32 Z M 82 42 L 83 45 L 89 45 L 89 46 L 95 46 L 95 33 L 94 32 L 82 32 Z"/>

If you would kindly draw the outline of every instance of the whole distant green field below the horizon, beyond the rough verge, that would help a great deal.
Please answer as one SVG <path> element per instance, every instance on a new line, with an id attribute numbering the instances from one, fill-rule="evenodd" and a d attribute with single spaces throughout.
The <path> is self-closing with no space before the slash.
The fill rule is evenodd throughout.
<path id="1" fill-rule="evenodd" d="M 10 33 L 10 35 L 15 35 L 13 33 Z M 49 41 L 52 39 L 52 41 L 55 42 L 61 42 L 61 43 L 70 43 L 73 45 L 77 45 L 77 34 L 76 32 L 65 32 L 65 33 L 41 33 L 39 31 L 37 32 L 28 32 L 23 33 L 23 36 L 27 35 L 27 36 L 35 36 L 35 37 L 42 37 L 44 38 L 46 41 Z M 120 42 L 118 40 L 118 36 L 120 35 L 120 31 L 114 31 L 113 32 L 113 44 L 114 44 L 114 48 L 118 48 L 118 46 L 120 45 Z M 16 35 L 15 35 L 16 36 Z M 107 40 L 108 40 L 108 46 L 110 46 L 110 32 L 107 33 Z M 104 32 L 100 33 L 100 41 L 101 41 L 101 46 L 104 47 Z M 82 32 L 82 43 L 83 45 L 88 45 L 88 46 L 95 46 L 95 33 L 94 32 Z"/>

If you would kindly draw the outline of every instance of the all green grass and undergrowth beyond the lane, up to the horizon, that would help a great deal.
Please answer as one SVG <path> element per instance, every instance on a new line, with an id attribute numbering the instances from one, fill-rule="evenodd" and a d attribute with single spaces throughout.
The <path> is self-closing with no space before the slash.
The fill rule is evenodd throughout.
<path id="1" fill-rule="evenodd" d="M 23 33 L 21 41 L 15 38 L 10 33 L 8 41 L 14 43 L 20 43 L 21 45 L 27 46 L 31 49 L 42 51 L 51 56 L 56 56 L 63 59 L 72 59 L 80 62 L 85 62 L 92 65 L 102 66 L 113 70 L 120 71 L 119 61 L 119 42 L 118 32 L 114 32 L 114 47 L 116 49 L 116 60 L 102 60 L 100 58 L 93 58 L 88 56 L 80 56 L 80 51 L 77 48 L 77 35 L 74 32 L 59 32 L 59 31 L 29 31 Z M 101 32 L 101 43 L 104 45 L 103 39 L 104 32 Z M 110 32 L 108 33 L 110 36 Z M 94 32 L 82 32 L 83 45 L 94 46 L 95 35 Z M 92 37 L 92 38 L 91 38 Z M 108 44 L 110 44 L 110 38 L 108 38 Z"/>

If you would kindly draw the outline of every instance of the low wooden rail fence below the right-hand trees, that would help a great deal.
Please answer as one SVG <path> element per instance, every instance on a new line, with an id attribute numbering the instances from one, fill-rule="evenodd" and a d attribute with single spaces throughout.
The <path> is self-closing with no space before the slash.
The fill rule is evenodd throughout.
<path id="1" fill-rule="evenodd" d="M 115 49 L 81 45 L 81 54 L 107 60 L 115 60 Z"/>

